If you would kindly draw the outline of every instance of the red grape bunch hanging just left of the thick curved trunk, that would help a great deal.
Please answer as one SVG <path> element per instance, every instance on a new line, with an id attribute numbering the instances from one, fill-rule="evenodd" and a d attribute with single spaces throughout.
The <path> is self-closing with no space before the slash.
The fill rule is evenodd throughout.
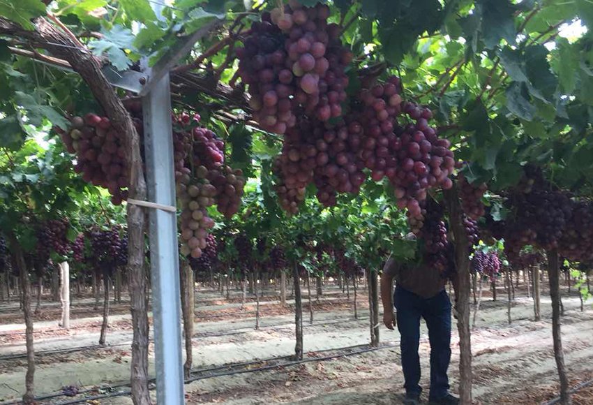
<path id="1" fill-rule="evenodd" d="M 129 183 L 123 134 L 112 128 L 109 118 L 93 113 L 70 122 L 67 132 L 59 132 L 68 152 L 77 156 L 74 169 L 85 182 L 109 190 L 115 205 L 121 204 Z"/>

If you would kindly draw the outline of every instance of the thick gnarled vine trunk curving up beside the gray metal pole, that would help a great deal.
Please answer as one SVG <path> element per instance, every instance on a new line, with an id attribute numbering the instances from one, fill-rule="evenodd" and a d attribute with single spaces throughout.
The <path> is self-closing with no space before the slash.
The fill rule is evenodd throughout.
<path id="1" fill-rule="evenodd" d="M 128 151 L 128 195 L 136 200 L 147 199 L 144 182 L 140 137 L 133 121 L 123 108 L 116 91 L 103 75 L 101 66 L 86 49 L 47 22 L 43 17 L 33 20 L 35 29 L 27 31 L 18 24 L 0 17 L 0 34 L 24 38 L 44 47 L 54 56 L 68 61 L 70 66 L 87 83 L 114 129 L 123 135 Z M 66 46 L 63 46 L 66 45 Z M 130 279 L 130 307 L 133 323 L 132 343 L 132 399 L 135 405 L 150 404 L 148 390 L 148 313 L 147 277 L 144 270 L 144 212 L 137 205 L 128 204 L 128 277 Z"/>

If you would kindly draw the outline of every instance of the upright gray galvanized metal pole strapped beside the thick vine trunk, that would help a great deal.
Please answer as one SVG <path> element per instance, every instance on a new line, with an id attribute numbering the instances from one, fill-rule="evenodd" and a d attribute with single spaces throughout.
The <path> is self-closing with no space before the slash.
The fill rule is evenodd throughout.
<path id="1" fill-rule="evenodd" d="M 149 200 L 174 206 L 175 180 L 168 73 L 142 98 L 142 111 Z M 182 405 L 184 395 L 177 215 L 174 212 L 151 209 L 149 222 L 157 403 Z"/>

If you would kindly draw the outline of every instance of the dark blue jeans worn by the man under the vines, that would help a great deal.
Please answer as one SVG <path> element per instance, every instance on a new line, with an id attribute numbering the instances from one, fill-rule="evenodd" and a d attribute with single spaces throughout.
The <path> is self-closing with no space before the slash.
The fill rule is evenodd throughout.
<path id="1" fill-rule="evenodd" d="M 400 331 L 402 369 L 407 394 L 420 394 L 420 317 L 428 326 L 430 340 L 430 399 L 439 399 L 449 392 L 446 371 L 451 360 L 451 301 L 445 290 L 432 298 L 404 290 L 399 286 L 393 293 Z"/>

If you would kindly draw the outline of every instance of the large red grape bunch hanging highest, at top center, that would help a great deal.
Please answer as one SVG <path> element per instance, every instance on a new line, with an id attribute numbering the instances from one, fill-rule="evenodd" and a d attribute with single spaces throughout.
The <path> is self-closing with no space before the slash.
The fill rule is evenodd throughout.
<path id="1" fill-rule="evenodd" d="M 328 24 L 329 7 L 297 1 L 263 13 L 237 49 L 239 75 L 249 85 L 253 118 L 262 128 L 285 133 L 301 111 L 320 121 L 342 115 L 352 61 L 340 27 Z"/>

